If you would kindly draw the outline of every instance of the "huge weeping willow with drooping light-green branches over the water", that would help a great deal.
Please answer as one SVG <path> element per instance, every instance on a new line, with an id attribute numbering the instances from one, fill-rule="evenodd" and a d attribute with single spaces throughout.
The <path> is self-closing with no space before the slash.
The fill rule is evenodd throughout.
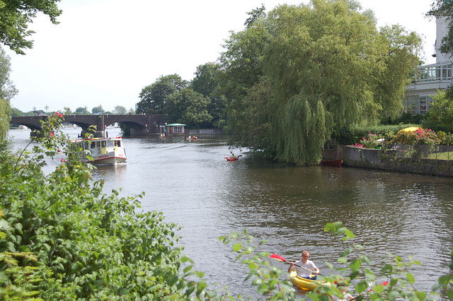
<path id="1" fill-rule="evenodd" d="M 227 46 L 222 66 L 234 89 L 224 91 L 234 117 L 229 126 L 242 133 L 241 145 L 251 141 L 243 133 L 258 125 L 238 111 L 260 116 L 241 107 L 259 106 L 270 122 L 265 123 L 270 131 L 263 131 L 270 138 L 258 139 L 270 143 L 263 149 L 279 160 L 313 164 L 333 129 L 396 114 L 408 71 L 418 63 L 420 38 L 398 27 L 379 31 L 373 13 L 361 11 L 357 1 L 313 0 L 277 6 L 267 18 L 233 33 Z M 261 90 L 250 88 L 264 76 L 271 87 L 266 104 L 248 95 Z M 243 117 L 248 120 L 240 121 Z"/>

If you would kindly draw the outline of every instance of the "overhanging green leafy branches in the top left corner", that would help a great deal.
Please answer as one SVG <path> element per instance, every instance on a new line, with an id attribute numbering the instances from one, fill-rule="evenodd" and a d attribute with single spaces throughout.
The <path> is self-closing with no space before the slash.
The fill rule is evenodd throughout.
<path id="1" fill-rule="evenodd" d="M 57 17 L 62 13 L 57 3 L 60 0 L 3 0 L 0 1 L 0 42 L 18 54 L 23 49 L 33 47 L 27 37 L 35 33 L 28 30 L 28 24 L 38 13 L 49 16 L 50 21 L 58 24 Z"/>

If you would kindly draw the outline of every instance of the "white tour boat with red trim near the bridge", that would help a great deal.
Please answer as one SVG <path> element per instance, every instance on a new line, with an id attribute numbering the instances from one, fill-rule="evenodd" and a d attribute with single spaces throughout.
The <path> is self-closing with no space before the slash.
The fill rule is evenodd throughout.
<path id="1" fill-rule="evenodd" d="M 122 138 L 86 138 L 71 140 L 75 148 L 82 150 L 82 162 L 91 164 L 117 164 L 127 162 Z M 86 158 L 86 151 L 93 160 Z"/>

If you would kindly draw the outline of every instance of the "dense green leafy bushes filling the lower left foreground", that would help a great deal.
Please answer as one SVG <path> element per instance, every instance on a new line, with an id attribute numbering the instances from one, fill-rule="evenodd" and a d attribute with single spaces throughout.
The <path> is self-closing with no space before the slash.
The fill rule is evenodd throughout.
<path id="1" fill-rule="evenodd" d="M 139 213 L 139 198 L 103 194 L 49 117 L 33 151 L 0 152 L 0 299 L 214 298 L 178 247 L 178 225 Z M 39 143 L 35 143 L 39 142 Z M 66 162 L 45 175 L 45 157 Z"/>

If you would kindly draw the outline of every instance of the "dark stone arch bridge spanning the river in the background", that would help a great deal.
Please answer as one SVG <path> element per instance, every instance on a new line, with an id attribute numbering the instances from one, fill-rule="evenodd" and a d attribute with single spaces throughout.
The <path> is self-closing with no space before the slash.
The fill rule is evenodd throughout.
<path id="1" fill-rule="evenodd" d="M 105 127 L 122 123 L 130 127 L 130 136 L 152 136 L 161 133 L 161 128 L 166 124 L 166 115 L 67 115 L 64 122 L 76 124 L 82 128 L 81 134 L 86 134 L 88 127 L 96 126 L 96 137 L 104 136 Z M 32 130 L 40 130 L 40 120 L 47 116 L 14 116 L 11 124 L 22 124 Z"/>

